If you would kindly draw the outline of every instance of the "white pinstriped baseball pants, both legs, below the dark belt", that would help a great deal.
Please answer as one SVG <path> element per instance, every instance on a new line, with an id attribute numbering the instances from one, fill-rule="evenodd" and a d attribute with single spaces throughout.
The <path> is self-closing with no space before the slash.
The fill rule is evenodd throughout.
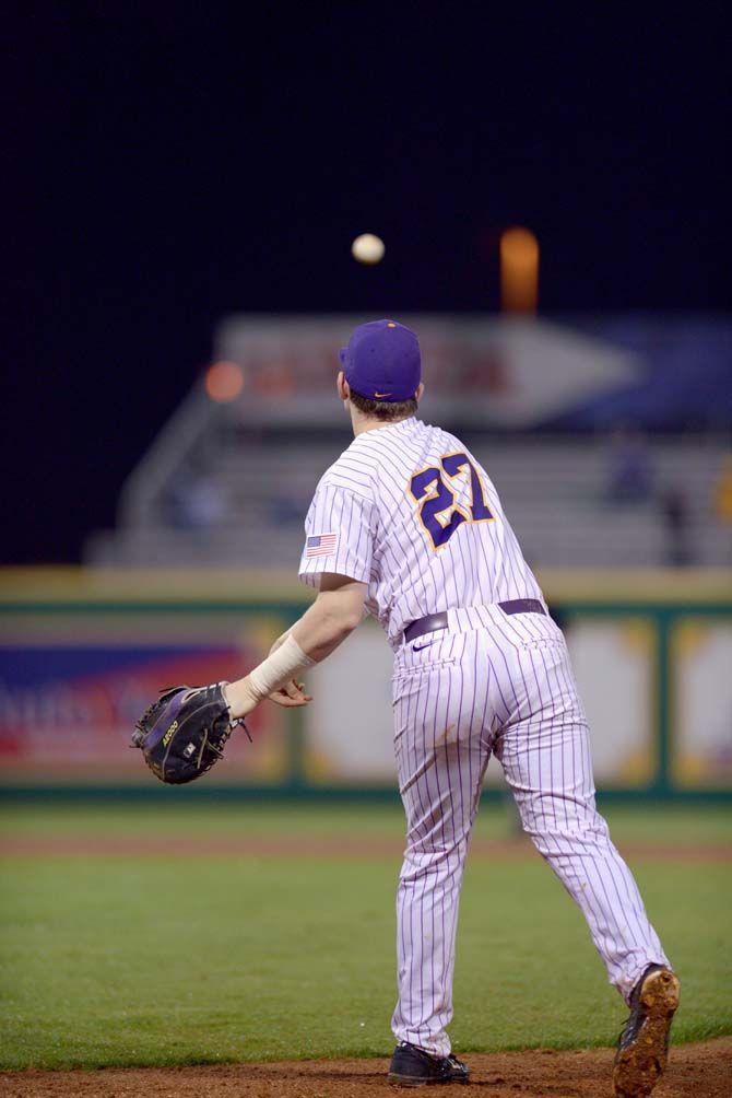
<path id="1" fill-rule="evenodd" d="M 561 630 L 497 606 L 449 614 L 449 628 L 404 645 L 394 669 L 407 845 L 392 1028 L 441 1056 L 450 1052 L 463 867 L 491 753 L 523 829 L 579 905 L 610 983 L 627 999 L 646 965 L 668 963 L 595 808 L 587 721 Z"/>

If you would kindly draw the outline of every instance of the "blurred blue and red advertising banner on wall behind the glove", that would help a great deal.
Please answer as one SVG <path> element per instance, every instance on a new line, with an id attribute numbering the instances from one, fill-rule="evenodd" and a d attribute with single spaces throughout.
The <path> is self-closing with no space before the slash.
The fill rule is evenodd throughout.
<path id="1" fill-rule="evenodd" d="M 243 630 L 240 616 L 74 614 L 19 623 L 13 641 L 0 645 L 0 782 L 156 783 L 128 744 L 158 691 L 236 679 L 273 636 L 263 620 L 248 619 Z M 282 710 L 260 706 L 250 724 L 255 743 L 232 736 L 217 782 L 285 777 Z"/>

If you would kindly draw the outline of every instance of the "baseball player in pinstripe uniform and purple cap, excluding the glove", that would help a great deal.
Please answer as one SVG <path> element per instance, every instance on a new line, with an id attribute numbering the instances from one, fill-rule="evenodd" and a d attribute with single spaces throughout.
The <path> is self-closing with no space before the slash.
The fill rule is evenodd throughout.
<path id="1" fill-rule="evenodd" d="M 665 1066 L 679 984 L 595 808 L 587 721 L 562 631 L 485 470 L 454 435 L 416 418 L 416 335 L 395 321 L 363 324 L 340 363 L 338 396 L 354 438 L 317 485 L 300 564 L 318 595 L 270 656 L 226 687 L 232 716 L 268 696 L 307 704 L 303 672 L 364 608 L 378 617 L 394 652 L 407 826 L 390 1080 L 469 1078 L 447 1027 L 465 854 L 494 754 L 523 829 L 582 909 L 630 1007 L 616 1095 L 647 1095 Z"/>

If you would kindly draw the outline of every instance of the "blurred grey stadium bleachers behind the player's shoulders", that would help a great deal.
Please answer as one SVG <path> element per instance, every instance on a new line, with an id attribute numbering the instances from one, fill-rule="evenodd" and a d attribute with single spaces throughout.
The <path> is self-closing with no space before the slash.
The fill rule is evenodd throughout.
<path id="1" fill-rule="evenodd" d="M 650 441 L 653 486 L 639 502 L 609 497 L 610 445 L 604 437 L 473 434 L 464 440 L 494 480 L 537 565 L 732 563 L 732 533 L 718 524 L 712 507 L 723 439 Z M 327 440 L 239 427 L 204 433 L 195 461 L 191 453 L 170 461 L 154 452 L 131 479 L 119 529 L 94 535 L 87 559 L 294 568 L 314 488 L 347 445 L 345 432 Z M 672 490 L 684 500 L 680 561 L 664 517 L 663 500 Z"/>

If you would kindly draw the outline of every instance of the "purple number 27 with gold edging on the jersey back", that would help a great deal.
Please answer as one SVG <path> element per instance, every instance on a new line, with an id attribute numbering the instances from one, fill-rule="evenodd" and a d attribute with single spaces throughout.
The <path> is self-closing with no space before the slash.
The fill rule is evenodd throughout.
<path id="1" fill-rule="evenodd" d="M 415 473 L 409 482 L 412 495 L 419 504 L 419 522 L 429 535 L 433 549 L 447 545 L 463 523 L 484 523 L 493 518 L 488 509 L 477 470 L 466 453 L 447 453 L 440 458 L 441 469 L 430 466 Z M 468 472 L 470 506 L 463 511 L 455 503 L 455 493 L 446 482 Z"/>

